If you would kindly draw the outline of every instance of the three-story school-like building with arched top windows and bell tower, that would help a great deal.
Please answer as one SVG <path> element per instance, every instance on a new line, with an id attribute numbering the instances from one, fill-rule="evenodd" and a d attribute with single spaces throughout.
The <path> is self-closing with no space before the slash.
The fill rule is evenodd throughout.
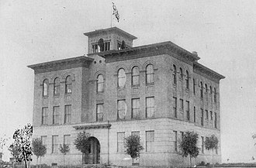
<path id="1" fill-rule="evenodd" d="M 186 131 L 199 134 L 197 163 L 211 162 L 206 136 L 220 140 L 220 79 L 171 42 L 133 47 L 137 37 L 121 29 L 95 30 L 88 36 L 88 57 L 30 65 L 34 70 L 33 136 L 47 146 L 42 163 L 62 164 L 60 144 L 70 146 L 67 164 L 130 165 L 123 138 L 140 135 L 144 166 L 188 165 L 178 154 Z M 88 132 L 91 149 L 74 146 Z M 219 148 L 214 163 L 220 163 Z M 195 163 L 195 160 L 193 160 Z"/>

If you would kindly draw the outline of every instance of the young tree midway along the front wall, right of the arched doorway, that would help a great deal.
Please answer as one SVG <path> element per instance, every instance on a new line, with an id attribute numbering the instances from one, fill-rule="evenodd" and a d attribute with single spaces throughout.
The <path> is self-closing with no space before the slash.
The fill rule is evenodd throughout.
<path id="1" fill-rule="evenodd" d="M 136 159 L 140 157 L 140 150 L 144 147 L 140 142 L 139 135 L 130 135 L 124 139 L 124 147 L 126 149 L 126 154 L 130 155 L 131 158 Z"/>

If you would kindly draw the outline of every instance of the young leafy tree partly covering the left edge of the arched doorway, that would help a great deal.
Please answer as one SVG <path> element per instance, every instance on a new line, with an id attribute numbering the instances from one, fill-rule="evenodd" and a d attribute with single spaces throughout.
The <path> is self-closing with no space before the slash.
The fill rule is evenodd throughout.
<path id="1" fill-rule="evenodd" d="M 76 139 L 74 139 L 74 146 L 78 149 L 81 153 L 86 155 L 88 153 L 89 148 L 91 147 L 88 138 L 91 135 L 87 132 L 79 132 Z"/>

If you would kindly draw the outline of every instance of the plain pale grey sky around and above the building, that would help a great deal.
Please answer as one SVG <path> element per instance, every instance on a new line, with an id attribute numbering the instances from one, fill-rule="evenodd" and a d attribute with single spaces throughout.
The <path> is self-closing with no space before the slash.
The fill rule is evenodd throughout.
<path id="1" fill-rule="evenodd" d="M 256 157 L 256 1 L 113 0 L 137 36 L 133 46 L 171 41 L 226 78 L 220 81 L 222 161 Z M 87 53 L 83 33 L 111 26 L 110 0 L 0 0 L 0 138 L 32 122 L 34 63 Z M 11 140 L 9 140 L 11 142 Z M 9 159 L 6 147 L 4 159 Z"/>

